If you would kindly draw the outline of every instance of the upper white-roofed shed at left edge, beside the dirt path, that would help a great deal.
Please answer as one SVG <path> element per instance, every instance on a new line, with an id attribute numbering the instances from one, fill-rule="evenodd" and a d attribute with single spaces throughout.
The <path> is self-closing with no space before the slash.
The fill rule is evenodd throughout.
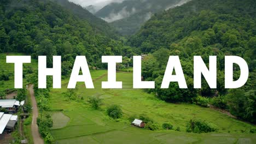
<path id="1" fill-rule="evenodd" d="M 16 99 L 1 99 L 0 107 L 4 108 L 8 113 L 16 113 L 19 106 L 24 105 L 25 101 L 18 101 Z"/>

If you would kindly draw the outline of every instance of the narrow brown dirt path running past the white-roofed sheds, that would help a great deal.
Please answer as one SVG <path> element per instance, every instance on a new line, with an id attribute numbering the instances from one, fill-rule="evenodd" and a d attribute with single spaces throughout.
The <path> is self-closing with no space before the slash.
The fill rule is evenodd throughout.
<path id="1" fill-rule="evenodd" d="M 31 124 L 31 133 L 33 136 L 34 144 L 43 144 L 44 140 L 42 137 L 40 137 L 39 131 L 38 131 L 38 125 L 37 125 L 37 117 L 38 117 L 38 109 L 37 109 L 37 101 L 36 98 L 34 98 L 34 89 L 33 85 L 30 85 L 28 87 L 28 91 L 30 91 L 30 97 L 31 97 L 31 103 L 32 103 L 32 124 Z"/>

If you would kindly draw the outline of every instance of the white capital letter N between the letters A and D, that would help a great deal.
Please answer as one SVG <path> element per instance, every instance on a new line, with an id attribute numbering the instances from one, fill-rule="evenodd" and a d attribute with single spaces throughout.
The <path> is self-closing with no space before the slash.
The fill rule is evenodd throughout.
<path id="1" fill-rule="evenodd" d="M 209 70 L 201 56 L 194 56 L 194 88 L 201 88 L 202 75 L 210 88 L 217 88 L 217 57 L 209 57 Z"/>

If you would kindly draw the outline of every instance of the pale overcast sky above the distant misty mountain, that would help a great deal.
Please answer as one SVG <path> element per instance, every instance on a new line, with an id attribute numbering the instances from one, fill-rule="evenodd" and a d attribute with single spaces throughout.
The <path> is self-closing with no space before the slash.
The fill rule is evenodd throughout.
<path id="1" fill-rule="evenodd" d="M 124 0 L 68 0 L 86 7 L 88 5 L 95 5 L 97 8 L 102 8 L 112 2 L 122 2 Z"/>

